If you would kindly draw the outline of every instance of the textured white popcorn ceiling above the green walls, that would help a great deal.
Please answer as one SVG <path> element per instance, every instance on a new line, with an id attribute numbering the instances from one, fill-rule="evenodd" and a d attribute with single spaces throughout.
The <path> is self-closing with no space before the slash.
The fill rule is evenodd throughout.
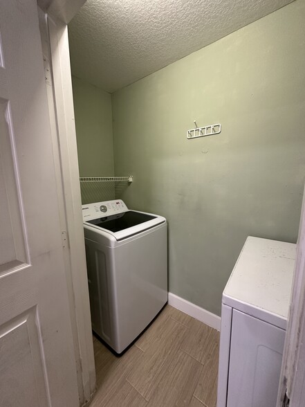
<path id="1" fill-rule="evenodd" d="M 87 0 L 68 26 L 73 75 L 113 92 L 292 0 Z"/>

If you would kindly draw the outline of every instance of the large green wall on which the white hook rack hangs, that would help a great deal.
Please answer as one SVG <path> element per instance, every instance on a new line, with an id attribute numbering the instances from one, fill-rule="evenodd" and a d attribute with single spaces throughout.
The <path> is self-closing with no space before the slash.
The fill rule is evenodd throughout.
<path id="1" fill-rule="evenodd" d="M 215 314 L 248 235 L 295 242 L 305 170 L 305 2 L 112 95 L 115 174 L 169 223 L 169 290 Z M 217 136 L 187 129 L 221 123 Z"/>

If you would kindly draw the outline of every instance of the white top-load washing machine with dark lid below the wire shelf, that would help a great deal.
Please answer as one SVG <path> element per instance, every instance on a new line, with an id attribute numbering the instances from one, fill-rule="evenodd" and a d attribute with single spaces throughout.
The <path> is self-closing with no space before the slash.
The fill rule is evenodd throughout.
<path id="1" fill-rule="evenodd" d="M 167 221 L 120 199 L 82 214 L 92 328 L 120 354 L 167 302 Z"/>

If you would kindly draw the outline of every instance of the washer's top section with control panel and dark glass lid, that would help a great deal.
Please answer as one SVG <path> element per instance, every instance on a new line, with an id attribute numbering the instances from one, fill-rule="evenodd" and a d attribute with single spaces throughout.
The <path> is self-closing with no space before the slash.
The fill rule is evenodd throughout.
<path id="1" fill-rule="evenodd" d="M 128 210 L 120 199 L 83 205 L 84 225 L 97 232 L 110 233 L 120 241 L 143 230 L 165 223 L 165 218 L 137 210 Z"/>

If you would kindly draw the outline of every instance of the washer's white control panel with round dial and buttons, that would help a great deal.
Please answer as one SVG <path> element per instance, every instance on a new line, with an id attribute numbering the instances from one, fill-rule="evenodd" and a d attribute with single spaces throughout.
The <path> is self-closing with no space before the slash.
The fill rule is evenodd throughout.
<path id="1" fill-rule="evenodd" d="M 126 212 L 127 210 L 128 208 L 122 199 L 88 203 L 87 205 L 82 205 L 82 219 L 87 221 L 98 217 L 115 215 L 115 213 Z"/>

